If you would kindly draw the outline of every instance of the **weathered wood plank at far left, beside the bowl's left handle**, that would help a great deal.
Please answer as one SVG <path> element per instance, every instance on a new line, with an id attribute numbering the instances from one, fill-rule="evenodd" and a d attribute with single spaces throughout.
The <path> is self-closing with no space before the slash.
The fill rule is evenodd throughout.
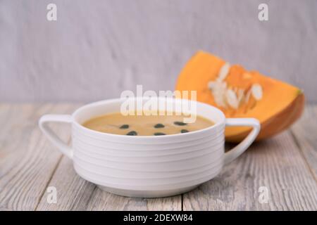
<path id="1" fill-rule="evenodd" d="M 68 113 L 69 105 L 0 105 L 0 210 L 35 210 L 61 153 L 37 126 L 46 113 Z M 67 139 L 69 133 L 55 127 Z"/>

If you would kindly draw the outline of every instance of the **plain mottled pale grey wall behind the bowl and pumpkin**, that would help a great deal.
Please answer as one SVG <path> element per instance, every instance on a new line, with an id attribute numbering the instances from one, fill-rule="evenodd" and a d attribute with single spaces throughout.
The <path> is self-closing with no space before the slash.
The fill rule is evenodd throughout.
<path id="1" fill-rule="evenodd" d="M 56 22 L 46 5 L 57 5 Z M 258 6 L 269 21 L 258 20 Z M 198 49 L 317 102 L 316 0 L 1 1 L 0 101 L 97 101 L 173 89 Z"/>

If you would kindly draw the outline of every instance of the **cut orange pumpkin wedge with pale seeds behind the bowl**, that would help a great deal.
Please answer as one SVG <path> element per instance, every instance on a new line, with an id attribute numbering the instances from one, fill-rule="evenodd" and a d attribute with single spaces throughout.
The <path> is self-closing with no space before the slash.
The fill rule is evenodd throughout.
<path id="1" fill-rule="evenodd" d="M 226 117 L 254 117 L 261 122 L 257 140 L 287 129 L 304 109 L 304 94 L 296 86 L 230 65 L 199 51 L 185 65 L 176 90 L 197 91 L 197 101 L 214 105 Z M 226 127 L 226 141 L 242 141 L 250 127 Z"/>

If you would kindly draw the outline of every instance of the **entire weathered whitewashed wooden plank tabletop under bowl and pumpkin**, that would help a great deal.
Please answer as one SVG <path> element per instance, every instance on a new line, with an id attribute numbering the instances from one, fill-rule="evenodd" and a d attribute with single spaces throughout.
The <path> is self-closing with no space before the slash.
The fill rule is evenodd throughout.
<path id="1" fill-rule="evenodd" d="M 75 174 L 37 126 L 46 113 L 74 104 L 0 104 L 0 210 L 317 210 L 317 106 L 273 139 L 247 153 L 194 191 L 170 198 L 125 198 Z M 56 125 L 64 140 L 70 128 Z M 47 188 L 55 186 L 57 203 Z M 268 202 L 260 203 L 261 187 Z"/>

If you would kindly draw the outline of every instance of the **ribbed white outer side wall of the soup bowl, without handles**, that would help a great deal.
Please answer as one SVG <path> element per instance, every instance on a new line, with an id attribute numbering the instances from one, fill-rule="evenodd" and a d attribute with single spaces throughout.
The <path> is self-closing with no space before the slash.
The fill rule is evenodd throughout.
<path id="1" fill-rule="evenodd" d="M 74 167 L 84 179 L 109 188 L 157 191 L 194 186 L 212 179 L 223 167 L 223 129 L 221 125 L 192 134 L 133 140 L 92 135 L 73 125 Z"/>

